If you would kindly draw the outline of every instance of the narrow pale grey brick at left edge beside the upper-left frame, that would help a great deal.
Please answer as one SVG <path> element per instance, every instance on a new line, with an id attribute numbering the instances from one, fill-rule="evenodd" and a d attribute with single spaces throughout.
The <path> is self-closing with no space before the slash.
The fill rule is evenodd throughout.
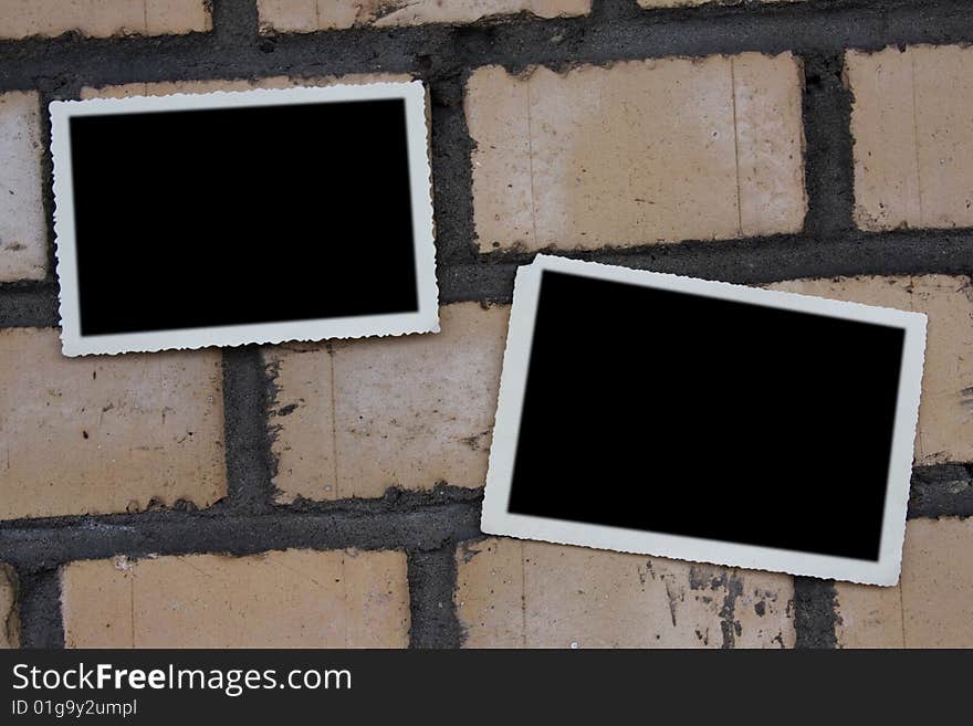
<path id="1" fill-rule="evenodd" d="M 0 95 L 0 282 L 43 280 L 48 273 L 42 148 L 38 94 Z"/>

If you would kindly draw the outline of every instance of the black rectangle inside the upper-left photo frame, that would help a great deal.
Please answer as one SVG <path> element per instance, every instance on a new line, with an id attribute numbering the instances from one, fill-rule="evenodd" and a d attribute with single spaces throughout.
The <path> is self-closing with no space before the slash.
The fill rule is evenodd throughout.
<path id="1" fill-rule="evenodd" d="M 418 309 L 404 101 L 70 124 L 82 335 Z"/>

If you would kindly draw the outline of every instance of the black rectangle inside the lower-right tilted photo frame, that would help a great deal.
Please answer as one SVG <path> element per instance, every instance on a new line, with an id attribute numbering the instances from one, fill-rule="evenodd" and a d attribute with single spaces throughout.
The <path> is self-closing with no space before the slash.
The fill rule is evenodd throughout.
<path id="1" fill-rule="evenodd" d="M 878 560 L 903 343 L 544 272 L 509 511 Z"/>

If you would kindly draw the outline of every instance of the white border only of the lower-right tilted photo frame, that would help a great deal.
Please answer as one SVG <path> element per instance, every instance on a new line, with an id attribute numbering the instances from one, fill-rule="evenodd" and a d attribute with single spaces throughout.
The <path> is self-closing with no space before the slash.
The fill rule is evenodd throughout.
<path id="1" fill-rule="evenodd" d="M 545 271 L 872 323 L 904 330 L 878 561 L 510 513 L 510 490 L 534 319 L 541 292 L 541 277 Z M 924 351 L 925 316 L 921 313 L 537 255 L 533 264 L 521 266 L 516 273 L 480 526 L 486 534 L 521 539 L 580 545 L 869 585 L 894 585 L 899 579 L 902 558 Z"/>

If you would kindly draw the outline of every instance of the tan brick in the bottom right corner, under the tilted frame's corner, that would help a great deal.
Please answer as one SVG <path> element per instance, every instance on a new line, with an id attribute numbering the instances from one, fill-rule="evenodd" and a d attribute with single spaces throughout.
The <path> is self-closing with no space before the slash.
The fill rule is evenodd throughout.
<path id="1" fill-rule="evenodd" d="M 973 519 L 913 519 L 906 526 L 894 588 L 838 583 L 843 648 L 973 648 Z"/>

